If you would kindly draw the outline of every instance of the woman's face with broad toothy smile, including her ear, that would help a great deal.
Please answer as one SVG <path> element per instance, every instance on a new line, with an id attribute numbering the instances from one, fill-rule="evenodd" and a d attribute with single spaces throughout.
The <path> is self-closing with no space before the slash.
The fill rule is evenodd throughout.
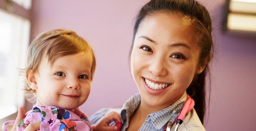
<path id="1" fill-rule="evenodd" d="M 140 23 L 131 53 L 131 73 L 141 105 L 168 107 L 189 87 L 199 66 L 198 36 L 189 19 L 154 13 Z"/>

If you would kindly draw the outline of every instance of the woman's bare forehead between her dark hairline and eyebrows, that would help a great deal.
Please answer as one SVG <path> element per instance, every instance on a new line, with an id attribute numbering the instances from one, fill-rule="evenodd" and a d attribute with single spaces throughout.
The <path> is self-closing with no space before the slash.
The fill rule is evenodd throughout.
<path id="1" fill-rule="evenodd" d="M 147 36 L 160 43 L 197 43 L 197 33 L 189 20 L 172 13 L 154 13 L 140 23 L 136 39 Z"/>

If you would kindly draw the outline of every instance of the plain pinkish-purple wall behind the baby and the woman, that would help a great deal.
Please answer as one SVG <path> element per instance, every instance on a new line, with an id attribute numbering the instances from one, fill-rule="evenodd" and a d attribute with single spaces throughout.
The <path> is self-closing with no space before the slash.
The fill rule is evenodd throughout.
<path id="1" fill-rule="evenodd" d="M 77 31 L 95 51 L 91 94 L 81 109 L 121 107 L 137 87 L 128 64 L 133 23 L 148 0 L 33 0 L 32 38 L 53 28 Z M 256 38 L 221 33 L 225 0 L 200 0 L 214 21 L 215 56 L 207 131 L 252 131 L 256 124 Z M 247 121 L 246 121 L 247 119 Z"/>

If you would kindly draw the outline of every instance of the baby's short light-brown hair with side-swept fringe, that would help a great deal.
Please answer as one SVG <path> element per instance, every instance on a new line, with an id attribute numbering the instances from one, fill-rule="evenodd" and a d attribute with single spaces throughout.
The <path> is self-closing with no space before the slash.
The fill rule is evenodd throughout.
<path id="1" fill-rule="evenodd" d="M 95 55 L 91 46 L 83 38 L 78 36 L 74 31 L 55 29 L 39 34 L 28 48 L 27 67 L 23 69 L 25 74 L 28 71 L 36 72 L 42 57 L 48 59 L 52 66 L 56 59 L 65 55 L 77 54 L 79 52 L 91 52 L 92 66 L 91 66 L 91 80 L 93 78 L 96 61 Z M 45 56 L 43 56 L 45 55 Z M 28 83 L 26 83 L 26 99 L 34 102 L 35 90 L 32 90 Z"/>

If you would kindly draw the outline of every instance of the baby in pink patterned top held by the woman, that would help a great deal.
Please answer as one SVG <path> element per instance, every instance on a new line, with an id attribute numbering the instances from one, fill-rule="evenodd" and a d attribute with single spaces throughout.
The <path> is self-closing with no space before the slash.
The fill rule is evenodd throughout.
<path id="1" fill-rule="evenodd" d="M 110 114 L 91 126 L 78 109 L 89 96 L 96 62 L 90 45 L 74 31 L 57 29 L 40 34 L 29 46 L 27 60 L 26 92 L 36 103 L 17 131 L 36 121 L 41 121 L 40 131 L 105 130 L 110 121 L 121 121 Z"/>

